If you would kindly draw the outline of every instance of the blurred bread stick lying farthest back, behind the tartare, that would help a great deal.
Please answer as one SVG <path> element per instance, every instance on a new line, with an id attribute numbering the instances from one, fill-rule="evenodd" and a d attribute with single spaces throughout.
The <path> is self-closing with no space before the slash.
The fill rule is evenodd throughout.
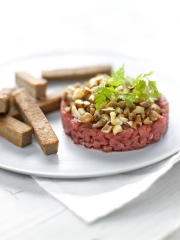
<path id="1" fill-rule="evenodd" d="M 42 77 L 48 81 L 66 80 L 66 79 L 87 79 L 96 76 L 97 74 L 110 74 L 110 65 L 91 66 L 71 69 L 57 69 L 42 71 Z"/>

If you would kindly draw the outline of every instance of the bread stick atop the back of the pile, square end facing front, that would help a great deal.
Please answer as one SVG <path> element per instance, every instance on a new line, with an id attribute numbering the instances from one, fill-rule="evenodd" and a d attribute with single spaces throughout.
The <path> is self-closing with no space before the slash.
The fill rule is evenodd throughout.
<path id="1" fill-rule="evenodd" d="M 46 96 L 47 81 L 38 79 L 27 72 L 16 72 L 16 83 L 20 88 L 26 88 L 29 94 L 37 99 L 43 99 Z"/>

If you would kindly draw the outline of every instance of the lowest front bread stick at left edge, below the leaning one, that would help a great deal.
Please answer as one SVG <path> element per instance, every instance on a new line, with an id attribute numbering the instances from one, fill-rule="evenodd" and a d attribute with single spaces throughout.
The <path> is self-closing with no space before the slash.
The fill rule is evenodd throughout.
<path id="1" fill-rule="evenodd" d="M 0 136 L 18 147 L 25 147 L 32 142 L 33 130 L 30 126 L 17 119 L 0 116 Z"/>

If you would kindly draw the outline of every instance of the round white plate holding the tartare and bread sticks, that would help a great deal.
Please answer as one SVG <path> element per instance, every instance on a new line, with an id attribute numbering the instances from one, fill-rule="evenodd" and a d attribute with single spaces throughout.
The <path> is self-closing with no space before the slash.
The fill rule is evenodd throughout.
<path id="1" fill-rule="evenodd" d="M 110 63 L 117 69 L 123 63 L 126 73 L 136 76 L 156 70 L 151 63 L 117 54 L 97 53 L 61 53 L 55 56 L 41 56 L 16 61 L 0 68 L 0 88 L 14 87 L 15 71 L 28 71 L 40 77 L 45 69 L 59 67 L 78 67 Z M 81 178 L 110 175 L 139 169 L 156 163 L 176 153 L 180 149 L 179 127 L 179 85 L 172 79 L 155 74 L 158 88 L 170 102 L 169 128 L 163 138 L 143 149 L 129 152 L 103 153 L 98 150 L 86 149 L 74 145 L 64 134 L 59 111 L 48 114 L 55 133 L 59 138 L 58 154 L 45 156 L 36 140 L 32 145 L 19 148 L 0 138 L 0 167 L 23 174 L 52 177 L 52 178 Z M 50 84 L 48 91 L 52 92 L 66 83 Z"/>

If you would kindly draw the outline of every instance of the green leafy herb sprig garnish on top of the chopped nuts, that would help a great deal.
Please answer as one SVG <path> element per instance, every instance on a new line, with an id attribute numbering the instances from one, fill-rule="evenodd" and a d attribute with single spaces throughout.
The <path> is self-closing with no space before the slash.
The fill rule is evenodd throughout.
<path id="1" fill-rule="evenodd" d="M 135 79 L 125 76 L 124 65 L 112 72 L 99 86 L 93 87 L 96 109 L 99 110 L 105 103 L 111 104 L 117 100 L 124 100 L 127 104 L 142 100 L 157 100 L 161 93 L 156 82 L 149 79 L 153 72 L 139 74 Z"/>

